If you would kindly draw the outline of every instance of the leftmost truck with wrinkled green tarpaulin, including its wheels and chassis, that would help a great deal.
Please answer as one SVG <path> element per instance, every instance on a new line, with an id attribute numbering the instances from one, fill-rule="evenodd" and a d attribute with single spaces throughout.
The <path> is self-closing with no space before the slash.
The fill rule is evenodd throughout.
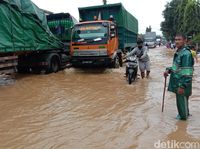
<path id="1" fill-rule="evenodd" d="M 51 73 L 66 66 L 64 44 L 32 1 L 2 0 L 0 18 L 0 73 Z"/>

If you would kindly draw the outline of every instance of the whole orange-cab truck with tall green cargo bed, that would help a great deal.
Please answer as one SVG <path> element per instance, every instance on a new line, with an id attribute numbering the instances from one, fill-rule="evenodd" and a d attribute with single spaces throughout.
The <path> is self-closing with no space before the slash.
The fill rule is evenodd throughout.
<path id="1" fill-rule="evenodd" d="M 122 65 L 122 53 L 136 45 L 138 20 L 121 3 L 82 7 L 79 16 L 72 29 L 72 65 Z"/>

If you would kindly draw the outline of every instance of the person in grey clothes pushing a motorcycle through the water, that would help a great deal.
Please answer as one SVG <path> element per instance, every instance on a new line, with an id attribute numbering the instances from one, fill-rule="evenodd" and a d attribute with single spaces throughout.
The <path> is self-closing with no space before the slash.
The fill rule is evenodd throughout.
<path id="1" fill-rule="evenodd" d="M 137 47 L 135 47 L 129 54 L 126 55 L 126 57 L 129 57 L 131 55 L 136 55 L 138 57 L 139 69 L 141 72 L 142 79 L 145 77 L 145 71 L 146 78 L 148 78 L 150 74 L 150 58 L 147 52 L 148 48 L 144 46 L 143 40 L 138 38 Z"/>

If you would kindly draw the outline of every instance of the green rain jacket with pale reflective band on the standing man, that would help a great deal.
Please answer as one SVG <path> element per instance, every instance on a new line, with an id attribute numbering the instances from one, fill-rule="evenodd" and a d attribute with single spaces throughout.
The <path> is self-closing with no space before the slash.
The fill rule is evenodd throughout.
<path id="1" fill-rule="evenodd" d="M 177 89 L 181 87 L 185 89 L 184 96 L 192 94 L 193 65 L 194 59 L 188 48 L 176 51 L 172 67 L 167 68 L 170 73 L 168 91 L 177 93 Z"/>

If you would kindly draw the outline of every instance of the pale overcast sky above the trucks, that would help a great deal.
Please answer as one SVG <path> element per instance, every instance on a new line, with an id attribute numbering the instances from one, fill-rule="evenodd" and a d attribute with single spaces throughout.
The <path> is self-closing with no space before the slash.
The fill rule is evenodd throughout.
<path id="1" fill-rule="evenodd" d="M 78 7 L 103 4 L 103 0 L 32 0 L 38 7 L 52 12 L 68 12 L 79 20 Z M 162 11 L 170 0 L 107 0 L 108 4 L 121 2 L 126 10 L 138 19 L 139 33 L 144 33 L 147 26 L 161 34 Z"/>

